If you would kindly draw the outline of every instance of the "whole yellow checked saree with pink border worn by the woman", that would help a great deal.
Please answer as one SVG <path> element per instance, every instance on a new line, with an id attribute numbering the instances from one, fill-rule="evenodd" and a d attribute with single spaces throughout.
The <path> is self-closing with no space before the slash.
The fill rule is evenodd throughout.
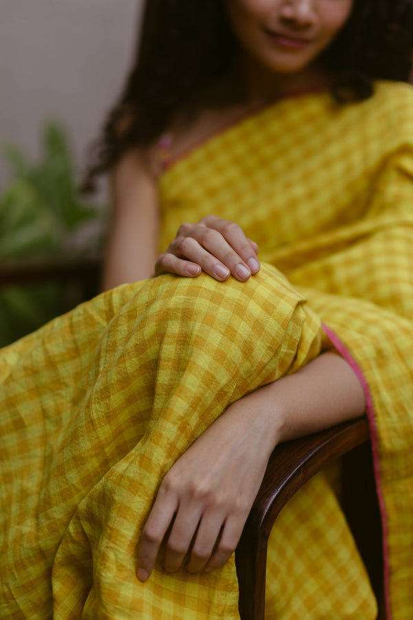
<path id="1" fill-rule="evenodd" d="M 388 618 L 410 619 L 412 89 L 279 101 L 173 163 L 160 198 L 161 249 L 179 223 L 216 214 L 260 245 L 262 271 L 125 285 L 0 352 L 0 616 L 236 618 L 233 559 L 211 575 L 158 564 L 140 583 L 142 525 L 226 406 L 333 342 L 366 391 Z M 323 475 L 277 520 L 267 581 L 268 619 L 374 618 Z"/>

